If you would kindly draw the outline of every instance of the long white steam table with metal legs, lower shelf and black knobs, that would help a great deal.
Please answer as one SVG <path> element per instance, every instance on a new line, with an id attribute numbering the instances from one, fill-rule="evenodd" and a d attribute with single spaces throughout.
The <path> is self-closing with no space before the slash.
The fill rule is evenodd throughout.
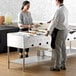
<path id="1" fill-rule="evenodd" d="M 71 51 L 71 41 L 76 39 L 76 32 L 73 34 L 68 34 L 67 40 L 70 41 L 70 50 L 68 55 L 76 54 L 76 51 Z M 7 47 L 8 47 L 8 68 L 10 68 L 10 62 L 20 63 L 23 64 L 23 71 L 25 70 L 25 60 L 28 63 L 28 58 L 24 57 L 25 48 L 44 48 L 44 49 L 51 49 L 50 48 L 50 42 L 51 37 L 50 36 L 44 36 L 44 35 L 36 35 L 36 34 L 30 34 L 26 32 L 15 32 L 15 33 L 8 33 L 7 34 Z M 10 61 L 10 50 L 9 47 L 16 47 L 16 48 L 22 48 L 23 49 L 23 59 L 17 59 L 15 61 Z M 51 53 L 50 53 L 51 54 Z M 32 57 L 31 57 L 32 58 Z M 29 58 L 30 59 L 30 58 Z M 30 60 L 35 62 L 38 62 L 37 58 L 34 57 L 34 59 Z M 44 57 L 40 58 L 41 61 L 51 60 L 51 57 Z M 20 61 L 20 62 L 19 62 Z"/>

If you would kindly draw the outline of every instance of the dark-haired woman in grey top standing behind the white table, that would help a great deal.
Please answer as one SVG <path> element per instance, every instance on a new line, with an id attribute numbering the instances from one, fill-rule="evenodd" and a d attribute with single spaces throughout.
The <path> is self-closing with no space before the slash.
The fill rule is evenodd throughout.
<path id="1" fill-rule="evenodd" d="M 18 26 L 20 31 L 28 31 L 33 27 L 31 13 L 28 11 L 30 2 L 24 1 L 21 7 L 21 12 L 18 14 Z M 25 49 L 25 57 L 28 57 L 29 48 Z M 23 58 L 22 49 L 19 50 L 20 58 Z"/>

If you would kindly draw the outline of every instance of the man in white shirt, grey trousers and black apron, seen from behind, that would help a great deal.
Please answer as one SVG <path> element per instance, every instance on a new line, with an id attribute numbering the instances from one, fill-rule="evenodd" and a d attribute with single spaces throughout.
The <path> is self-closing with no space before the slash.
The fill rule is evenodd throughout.
<path id="1" fill-rule="evenodd" d="M 52 36 L 51 47 L 53 50 L 54 63 L 50 70 L 66 70 L 66 45 L 65 40 L 68 34 L 68 10 L 63 4 L 63 0 L 56 0 L 58 9 L 54 15 L 51 24 L 48 27 L 47 34 Z"/>

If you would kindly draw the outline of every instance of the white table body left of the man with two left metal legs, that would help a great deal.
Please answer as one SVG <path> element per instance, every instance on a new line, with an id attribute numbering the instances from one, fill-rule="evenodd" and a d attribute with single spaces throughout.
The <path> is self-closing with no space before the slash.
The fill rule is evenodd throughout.
<path id="1" fill-rule="evenodd" d="M 16 32 L 7 34 L 7 47 L 8 47 L 8 68 L 10 68 L 9 47 L 16 47 L 23 49 L 23 71 L 25 70 L 25 48 L 41 47 L 50 49 L 50 36 L 29 34 L 26 32 Z M 48 46 L 49 45 L 49 46 Z"/>

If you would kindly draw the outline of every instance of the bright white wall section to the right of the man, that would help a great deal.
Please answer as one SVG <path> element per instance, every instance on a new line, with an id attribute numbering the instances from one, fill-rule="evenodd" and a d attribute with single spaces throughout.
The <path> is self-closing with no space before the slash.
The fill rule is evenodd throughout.
<path id="1" fill-rule="evenodd" d="M 76 0 L 65 0 L 64 3 L 69 10 L 69 24 L 76 26 Z"/>

